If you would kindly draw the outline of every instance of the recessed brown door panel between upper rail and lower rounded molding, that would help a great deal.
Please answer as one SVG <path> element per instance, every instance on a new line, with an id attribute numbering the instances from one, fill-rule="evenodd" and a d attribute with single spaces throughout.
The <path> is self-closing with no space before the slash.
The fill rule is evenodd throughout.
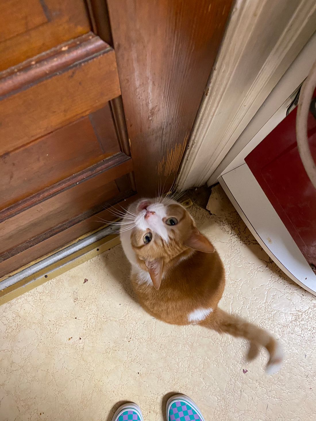
<path id="1" fill-rule="evenodd" d="M 110 105 L 0 157 L 0 210 L 120 152 Z"/>

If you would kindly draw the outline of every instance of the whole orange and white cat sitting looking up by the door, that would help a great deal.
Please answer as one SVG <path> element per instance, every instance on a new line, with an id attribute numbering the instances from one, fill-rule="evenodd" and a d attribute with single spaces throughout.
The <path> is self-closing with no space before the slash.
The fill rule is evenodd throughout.
<path id="1" fill-rule="evenodd" d="M 244 337 L 250 341 L 249 359 L 264 346 L 270 354 L 266 372 L 279 370 L 277 341 L 217 307 L 225 286 L 222 261 L 182 205 L 169 198 L 138 200 L 129 206 L 120 236 L 133 288 L 149 314 L 175 325 L 198 324 Z"/>

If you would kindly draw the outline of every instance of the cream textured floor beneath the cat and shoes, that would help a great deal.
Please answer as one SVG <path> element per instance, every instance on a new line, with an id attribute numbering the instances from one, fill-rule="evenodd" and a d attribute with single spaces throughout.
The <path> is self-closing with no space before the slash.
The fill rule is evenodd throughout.
<path id="1" fill-rule="evenodd" d="M 243 340 L 146 314 L 117 246 L 0 307 L 1 421 L 109 420 L 125 400 L 159 421 L 173 391 L 206 421 L 316 420 L 316 297 L 270 261 L 219 186 L 211 197 L 212 216 L 191 213 L 227 269 L 220 304 L 281 339 L 281 371 L 264 373 L 264 352 L 246 363 Z"/>

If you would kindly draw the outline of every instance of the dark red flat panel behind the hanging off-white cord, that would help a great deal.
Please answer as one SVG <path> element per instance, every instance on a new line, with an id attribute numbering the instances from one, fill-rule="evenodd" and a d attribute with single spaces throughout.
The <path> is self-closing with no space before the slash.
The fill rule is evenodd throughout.
<path id="1" fill-rule="evenodd" d="M 297 108 L 290 112 L 245 161 L 316 272 L 316 189 L 297 149 L 296 112 Z M 308 141 L 316 162 L 316 119 L 311 112 L 308 115 Z"/>

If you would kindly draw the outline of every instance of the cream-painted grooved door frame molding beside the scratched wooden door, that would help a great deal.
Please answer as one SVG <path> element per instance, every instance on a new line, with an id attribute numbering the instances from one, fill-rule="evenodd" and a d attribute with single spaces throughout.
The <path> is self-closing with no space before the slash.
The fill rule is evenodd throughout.
<path id="1" fill-rule="evenodd" d="M 315 30 L 315 0 L 236 1 L 182 161 L 177 190 L 209 180 Z"/>

